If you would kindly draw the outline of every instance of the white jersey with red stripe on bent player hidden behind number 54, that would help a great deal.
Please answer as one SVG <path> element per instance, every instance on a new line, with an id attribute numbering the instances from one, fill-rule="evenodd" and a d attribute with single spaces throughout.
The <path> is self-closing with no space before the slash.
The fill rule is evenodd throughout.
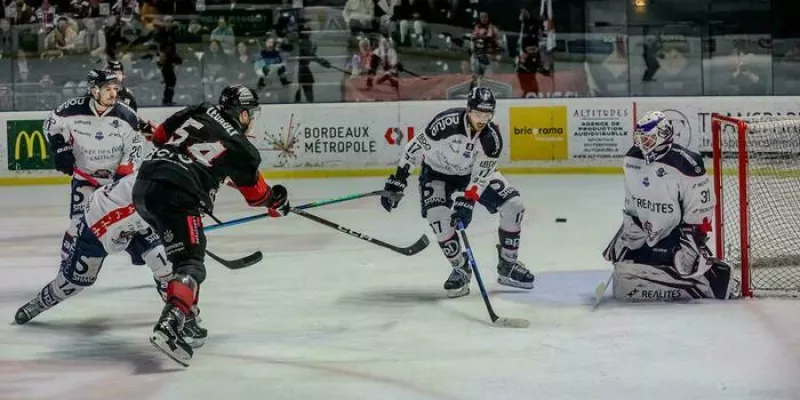
<path id="1" fill-rule="evenodd" d="M 125 250 L 135 233 L 150 229 L 133 207 L 131 193 L 135 182 L 136 174 L 131 174 L 89 196 L 84 218 L 108 254 Z"/>

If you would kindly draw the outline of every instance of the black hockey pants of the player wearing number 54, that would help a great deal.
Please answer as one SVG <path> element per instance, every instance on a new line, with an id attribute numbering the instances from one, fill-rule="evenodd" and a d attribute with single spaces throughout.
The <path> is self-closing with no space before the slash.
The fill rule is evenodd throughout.
<path id="1" fill-rule="evenodd" d="M 173 272 L 202 283 L 206 279 L 206 236 L 200 200 L 178 186 L 137 179 L 133 204 L 164 242 Z"/>

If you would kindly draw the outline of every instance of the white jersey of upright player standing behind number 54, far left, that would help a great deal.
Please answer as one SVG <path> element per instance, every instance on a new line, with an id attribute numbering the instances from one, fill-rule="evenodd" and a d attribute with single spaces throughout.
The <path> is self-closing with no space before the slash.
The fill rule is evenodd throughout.
<path id="1" fill-rule="evenodd" d="M 100 184 L 110 183 L 121 165 L 133 167 L 142 157 L 138 127 L 136 112 L 124 103 L 98 115 L 91 96 L 65 102 L 44 122 L 48 140 L 61 135 L 65 143 L 72 143 L 75 167 Z"/>

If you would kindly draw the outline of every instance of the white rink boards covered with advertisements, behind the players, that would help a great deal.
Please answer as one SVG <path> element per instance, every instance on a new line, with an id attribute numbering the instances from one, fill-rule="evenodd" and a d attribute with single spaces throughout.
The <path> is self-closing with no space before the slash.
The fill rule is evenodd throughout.
<path id="1" fill-rule="evenodd" d="M 265 105 L 250 134 L 269 178 L 384 176 L 437 113 L 463 105 L 463 100 Z M 791 97 L 500 100 L 494 119 L 504 141 L 500 169 L 508 174 L 619 173 L 636 116 L 653 109 L 672 120 L 678 143 L 701 152 L 711 150 L 713 112 L 796 116 L 800 111 Z M 161 122 L 177 110 L 144 108 L 140 116 Z M 47 115 L 0 113 L 0 184 L 67 181 L 51 168 L 41 129 Z"/>

